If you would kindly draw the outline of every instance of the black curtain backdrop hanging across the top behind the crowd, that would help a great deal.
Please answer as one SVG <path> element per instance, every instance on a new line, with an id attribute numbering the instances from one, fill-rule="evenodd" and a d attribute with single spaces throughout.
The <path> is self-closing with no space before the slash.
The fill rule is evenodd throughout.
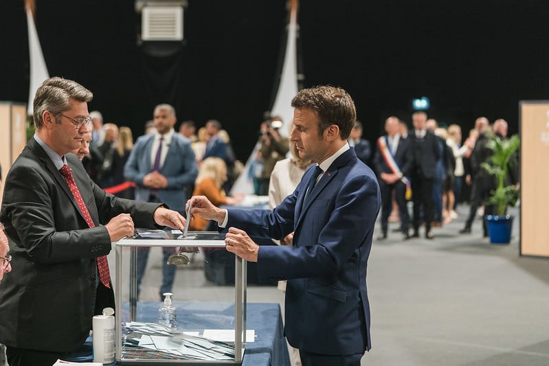
<path id="1" fill-rule="evenodd" d="M 410 123 L 421 96 L 464 135 L 480 115 L 517 133 L 519 100 L 549 99 L 547 14 L 545 0 L 301 0 L 303 84 L 348 90 L 370 141 L 389 115 Z M 247 159 L 276 90 L 285 0 L 189 0 L 185 41 L 166 58 L 137 44 L 133 0 L 36 0 L 36 16 L 50 75 L 91 89 L 106 122 L 137 137 L 168 102 L 179 122 L 219 119 Z M 0 1 L 0 47 L 0 100 L 27 102 L 23 0 Z"/>

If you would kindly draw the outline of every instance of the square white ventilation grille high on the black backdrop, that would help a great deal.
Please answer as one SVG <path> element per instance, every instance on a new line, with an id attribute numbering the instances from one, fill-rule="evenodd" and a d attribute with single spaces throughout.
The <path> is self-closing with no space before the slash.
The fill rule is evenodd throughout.
<path id="1" fill-rule="evenodd" d="M 183 8 L 180 6 L 145 6 L 142 12 L 143 41 L 181 41 Z"/>

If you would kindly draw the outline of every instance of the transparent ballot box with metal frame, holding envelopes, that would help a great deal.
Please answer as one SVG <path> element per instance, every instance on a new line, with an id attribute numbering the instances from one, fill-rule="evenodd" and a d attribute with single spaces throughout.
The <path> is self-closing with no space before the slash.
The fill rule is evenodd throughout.
<path id="1" fill-rule="evenodd" d="M 189 231 L 183 236 L 177 230 L 137 229 L 132 238 L 113 243 L 117 363 L 242 363 L 246 343 L 246 262 L 234 255 L 234 286 L 216 286 L 208 282 L 204 273 L 205 253 L 228 253 L 224 240 L 225 234 L 210 231 Z M 137 268 L 139 264 L 143 268 L 147 256 L 151 263 L 138 290 Z M 177 268 L 171 304 L 159 296 L 164 262 Z M 175 307 L 175 321 L 159 319 L 162 306 Z"/>

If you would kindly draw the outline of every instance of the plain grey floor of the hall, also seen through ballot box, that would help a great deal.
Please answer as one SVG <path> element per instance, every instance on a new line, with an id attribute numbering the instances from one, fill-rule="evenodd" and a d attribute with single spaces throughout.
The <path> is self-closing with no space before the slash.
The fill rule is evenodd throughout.
<path id="1" fill-rule="evenodd" d="M 518 219 L 511 244 L 493 245 L 482 238 L 480 220 L 473 233 L 458 234 L 467 207 L 458 211 L 458 219 L 434 229 L 434 240 L 403 242 L 390 232 L 374 241 L 372 350 L 363 365 L 549 365 L 549 260 L 519 256 Z M 144 300 L 157 299 L 160 262 L 153 249 Z M 232 301 L 232 288 L 213 286 L 202 264 L 197 254 L 178 268 L 174 298 Z M 282 304 L 283 297 L 275 286 L 249 286 L 248 301 Z"/>

